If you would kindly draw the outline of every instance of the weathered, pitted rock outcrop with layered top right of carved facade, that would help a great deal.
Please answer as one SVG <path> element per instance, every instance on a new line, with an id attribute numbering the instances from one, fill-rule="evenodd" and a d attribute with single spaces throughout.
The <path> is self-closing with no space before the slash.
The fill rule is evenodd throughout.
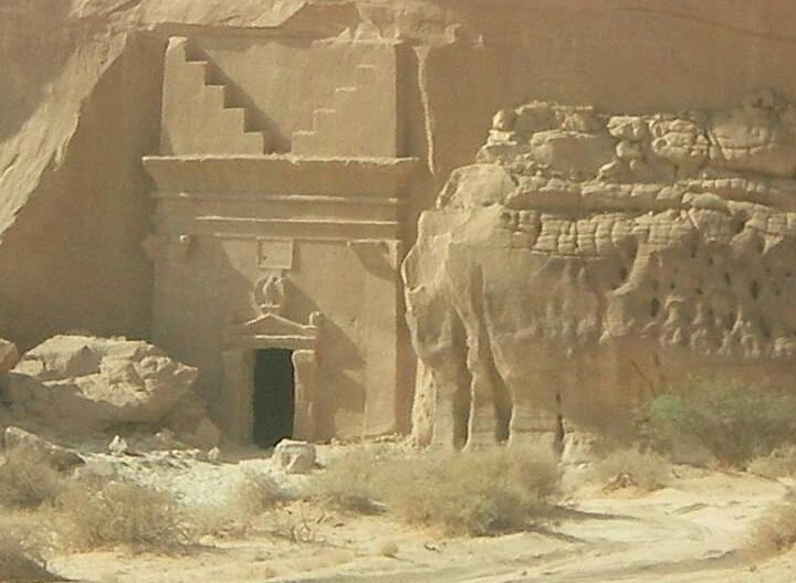
<path id="1" fill-rule="evenodd" d="M 688 375 L 793 383 L 796 108 L 500 112 L 405 266 L 421 443 L 611 431 Z"/>

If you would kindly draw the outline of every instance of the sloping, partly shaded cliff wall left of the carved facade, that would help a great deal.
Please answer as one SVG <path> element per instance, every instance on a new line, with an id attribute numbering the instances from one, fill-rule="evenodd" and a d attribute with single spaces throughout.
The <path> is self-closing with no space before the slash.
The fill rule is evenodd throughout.
<path id="1" fill-rule="evenodd" d="M 145 336 L 137 160 L 156 144 L 159 47 L 66 2 L 11 4 L 1 9 L 3 332 L 23 346 L 77 328 Z"/>

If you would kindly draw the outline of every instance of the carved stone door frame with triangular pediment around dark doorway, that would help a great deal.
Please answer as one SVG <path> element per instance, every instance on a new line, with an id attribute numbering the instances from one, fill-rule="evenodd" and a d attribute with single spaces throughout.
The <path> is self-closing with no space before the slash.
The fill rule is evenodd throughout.
<path id="1" fill-rule="evenodd" d="M 251 443 L 254 425 L 254 353 L 268 348 L 293 350 L 293 438 L 312 442 L 316 430 L 317 343 L 322 316 L 300 324 L 266 312 L 245 324 L 227 328 L 223 352 L 223 394 L 230 437 Z"/>

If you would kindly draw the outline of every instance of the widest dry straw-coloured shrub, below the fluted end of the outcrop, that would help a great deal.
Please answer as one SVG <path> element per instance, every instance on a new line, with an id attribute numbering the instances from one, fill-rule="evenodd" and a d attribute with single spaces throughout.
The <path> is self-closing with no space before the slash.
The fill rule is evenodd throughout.
<path id="1" fill-rule="evenodd" d="M 338 508 L 386 508 L 411 524 L 483 536 L 522 530 L 545 518 L 558 478 L 553 456 L 540 452 L 495 447 L 375 458 L 360 452 L 333 464 L 316 488 L 322 501 Z"/>

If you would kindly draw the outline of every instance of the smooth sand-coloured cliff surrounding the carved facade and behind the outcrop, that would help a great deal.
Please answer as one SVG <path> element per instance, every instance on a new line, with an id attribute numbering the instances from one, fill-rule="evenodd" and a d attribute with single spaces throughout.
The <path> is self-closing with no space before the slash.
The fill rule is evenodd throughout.
<path id="1" fill-rule="evenodd" d="M 503 107 L 632 113 L 725 107 L 766 86 L 796 93 L 785 0 L 19 0 L 0 15 L 0 331 L 22 346 L 70 328 L 148 333 L 139 158 L 158 149 L 175 34 L 405 40 L 404 153 L 429 168 L 412 213 L 472 160 Z"/>

